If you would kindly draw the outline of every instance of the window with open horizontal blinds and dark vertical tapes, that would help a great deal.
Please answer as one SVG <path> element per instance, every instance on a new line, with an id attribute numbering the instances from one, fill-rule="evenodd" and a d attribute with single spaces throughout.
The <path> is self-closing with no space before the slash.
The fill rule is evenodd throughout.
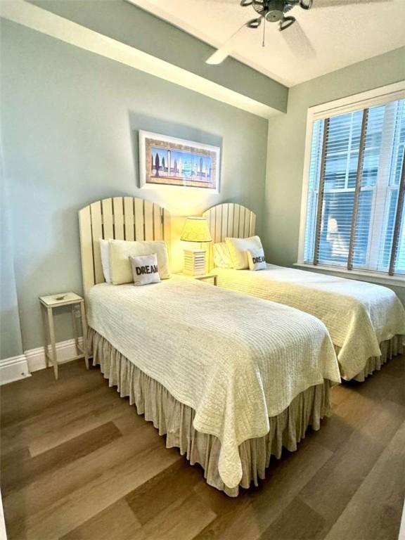
<path id="1" fill-rule="evenodd" d="M 405 275 L 405 99 L 312 123 L 303 262 Z"/>

